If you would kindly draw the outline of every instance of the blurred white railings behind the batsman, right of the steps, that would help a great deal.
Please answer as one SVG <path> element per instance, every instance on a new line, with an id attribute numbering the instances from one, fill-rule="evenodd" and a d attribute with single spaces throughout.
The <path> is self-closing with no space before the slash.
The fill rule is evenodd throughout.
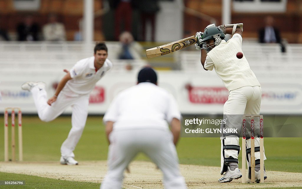
<path id="1" fill-rule="evenodd" d="M 302 45 L 288 44 L 281 52 L 279 44 L 243 43 L 244 55 L 255 74 L 302 77 Z M 199 51 L 182 51 L 182 69 L 187 72 L 203 72 Z"/>

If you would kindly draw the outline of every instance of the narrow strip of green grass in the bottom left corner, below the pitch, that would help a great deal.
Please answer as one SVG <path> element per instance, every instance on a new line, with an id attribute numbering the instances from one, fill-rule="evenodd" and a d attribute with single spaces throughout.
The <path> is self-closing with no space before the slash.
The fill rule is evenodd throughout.
<path id="1" fill-rule="evenodd" d="M 5 181 L 25 181 L 24 185 L 1 185 L 1 189 L 95 189 L 99 188 L 99 183 L 93 182 L 75 182 L 75 181 L 66 181 L 52 178 L 44 178 L 38 176 L 31 175 L 22 175 L 22 174 L 14 174 L 14 173 L 3 173 L 0 172 L 0 180 Z"/>

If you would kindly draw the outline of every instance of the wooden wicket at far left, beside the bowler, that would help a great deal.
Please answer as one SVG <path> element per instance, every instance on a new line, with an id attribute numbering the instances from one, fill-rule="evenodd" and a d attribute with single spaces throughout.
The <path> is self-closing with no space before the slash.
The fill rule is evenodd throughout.
<path id="1" fill-rule="evenodd" d="M 11 161 L 16 160 L 15 155 L 15 109 L 18 110 L 18 147 L 19 161 L 23 161 L 22 148 L 22 112 L 18 107 L 7 107 L 4 111 L 4 161 L 8 162 L 8 111 L 11 110 Z"/>

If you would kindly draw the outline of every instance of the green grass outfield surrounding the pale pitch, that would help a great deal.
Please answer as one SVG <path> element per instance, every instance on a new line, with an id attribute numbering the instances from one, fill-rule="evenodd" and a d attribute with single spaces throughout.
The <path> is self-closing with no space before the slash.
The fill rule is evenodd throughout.
<path id="1" fill-rule="evenodd" d="M 295 117 L 300 120 L 300 117 Z M 266 120 L 268 120 L 266 118 Z M 58 161 L 60 146 L 70 130 L 70 116 L 61 116 L 45 123 L 37 116 L 23 116 L 23 155 L 24 161 Z M 3 117 L 0 117 L 3 123 Z M 297 124 L 298 125 L 298 124 Z M 0 138 L 4 136 L 0 129 Z M 0 140 L 0 161 L 4 160 L 4 140 Z M 16 143 L 18 145 L 18 143 Z M 270 171 L 302 173 L 302 138 L 265 138 L 265 154 L 268 160 L 265 167 Z M 18 149 L 18 148 L 17 148 Z M 181 164 L 220 166 L 219 138 L 181 138 L 177 146 Z M 76 160 L 106 160 L 108 142 L 105 139 L 102 117 L 89 116 L 76 150 Z M 18 157 L 18 152 L 16 154 Z M 148 160 L 139 155 L 137 160 Z M 239 161 L 241 153 L 239 154 Z M 239 166 L 241 163 L 239 163 Z M 1 168 L 0 168 L 1 171 Z M 37 176 L 0 172 L 0 180 L 26 180 L 25 186 L 18 188 L 98 188 L 98 183 L 72 182 Z M 80 186 L 80 187 L 78 187 Z M 1 188 L 14 188 L 5 186 Z M 281 188 L 281 187 L 278 187 Z M 295 188 L 295 187 L 293 187 Z M 297 188 L 297 187 L 296 187 Z"/>

